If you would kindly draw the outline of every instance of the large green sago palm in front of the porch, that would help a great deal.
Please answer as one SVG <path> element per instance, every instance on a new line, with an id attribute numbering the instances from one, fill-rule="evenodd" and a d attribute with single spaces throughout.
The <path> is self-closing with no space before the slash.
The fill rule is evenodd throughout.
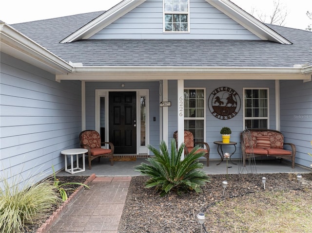
<path id="1" fill-rule="evenodd" d="M 142 162 L 135 167 L 135 170 L 143 175 L 150 177 L 146 181 L 147 188 L 156 187 L 161 196 L 171 191 L 181 194 L 182 191 L 194 190 L 201 192 L 201 186 L 210 182 L 209 177 L 202 171 L 203 164 L 198 161 L 204 155 L 204 152 L 198 152 L 196 146 L 183 160 L 184 144 L 181 144 L 176 150 L 175 140 L 171 141 L 171 151 L 164 141 L 160 143 L 160 150 L 148 145 L 148 148 L 154 153 L 155 157 L 150 157 L 147 161 L 150 164 Z"/>

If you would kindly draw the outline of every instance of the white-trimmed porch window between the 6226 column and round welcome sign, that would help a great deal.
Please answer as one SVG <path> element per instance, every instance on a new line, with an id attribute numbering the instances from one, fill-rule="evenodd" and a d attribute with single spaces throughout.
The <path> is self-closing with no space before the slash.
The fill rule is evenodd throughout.
<path id="1" fill-rule="evenodd" d="M 205 142 L 205 90 L 184 90 L 184 129 L 194 135 L 195 142 Z"/>

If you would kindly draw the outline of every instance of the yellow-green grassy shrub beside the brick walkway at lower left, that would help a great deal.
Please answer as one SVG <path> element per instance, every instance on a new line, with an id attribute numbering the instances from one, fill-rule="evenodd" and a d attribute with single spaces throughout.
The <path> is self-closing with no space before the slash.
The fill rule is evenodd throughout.
<path id="1" fill-rule="evenodd" d="M 13 184 L 1 179 L 0 190 L 0 232 L 25 232 L 26 226 L 34 225 L 59 201 L 51 181 L 23 185 L 14 179 Z M 20 187 L 21 186 L 21 187 Z"/>

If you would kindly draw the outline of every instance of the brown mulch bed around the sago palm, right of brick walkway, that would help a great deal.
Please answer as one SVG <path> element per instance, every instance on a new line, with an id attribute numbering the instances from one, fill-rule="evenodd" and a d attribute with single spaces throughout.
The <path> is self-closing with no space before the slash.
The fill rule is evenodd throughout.
<path id="1" fill-rule="evenodd" d="M 203 187 L 200 194 L 190 192 L 177 196 L 171 193 L 160 197 L 154 188 L 143 188 L 147 177 L 133 177 L 118 233 L 199 233 L 198 213 L 209 212 L 210 207 L 225 198 L 265 192 L 262 177 L 266 177 L 265 191 L 295 190 L 299 194 L 304 192 L 304 188 L 312 189 L 312 174 L 302 175 L 300 189 L 295 174 L 211 175 L 211 182 Z M 224 197 L 222 180 L 228 181 Z M 222 228 L 222 224 L 214 224 L 207 219 L 205 225 L 209 232 L 229 232 Z"/>

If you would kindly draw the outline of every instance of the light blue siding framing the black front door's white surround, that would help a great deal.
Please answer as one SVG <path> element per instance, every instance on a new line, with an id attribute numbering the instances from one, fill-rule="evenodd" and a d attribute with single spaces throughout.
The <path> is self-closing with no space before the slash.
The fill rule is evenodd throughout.
<path id="1" fill-rule="evenodd" d="M 95 90 L 120 90 L 121 83 L 125 84 L 122 90 L 149 90 L 149 125 L 150 144 L 159 146 L 159 82 L 86 82 L 86 129 L 95 129 Z M 156 117 L 156 121 L 153 118 Z"/>

